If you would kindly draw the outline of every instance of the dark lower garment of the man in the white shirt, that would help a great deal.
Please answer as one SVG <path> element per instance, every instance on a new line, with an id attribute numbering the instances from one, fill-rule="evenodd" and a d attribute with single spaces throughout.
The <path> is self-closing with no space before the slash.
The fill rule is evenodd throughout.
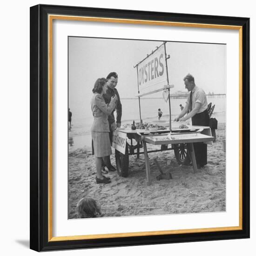
<path id="1" fill-rule="evenodd" d="M 209 126 L 209 115 L 207 109 L 192 117 L 192 125 Z M 203 142 L 194 143 L 196 163 L 204 166 L 207 164 L 207 144 Z"/>

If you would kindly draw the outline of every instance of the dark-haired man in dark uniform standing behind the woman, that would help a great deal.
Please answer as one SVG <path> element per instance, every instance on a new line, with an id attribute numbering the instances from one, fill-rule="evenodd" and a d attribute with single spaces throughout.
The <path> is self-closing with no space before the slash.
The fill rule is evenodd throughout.
<path id="1" fill-rule="evenodd" d="M 106 78 L 108 79 L 108 82 L 107 82 L 108 89 L 106 91 L 106 94 L 103 94 L 103 98 L 105 102 L 108 104 L 111 101 L 111 97 L 114 96 L 115 94 L 117 95 L 115 108 L 113 112 L 110 115 L 108 115 L 108 124 L 109 124 L 109 130 L 110 130 L 109 137 L 110 137 L 110 142 L 112 143 L 113 131 L 115 131 L 116 128 L 121 127 L 122 104 L 120 101 L 120 96 L 118 94 L 118 91 L 115 88 L 118 81 L 117 74 L 115 72 L 111 72 L 108 74 Z M 114 115 L 115 110 L 116 110 L 116 122 L 115 122 L 115 115 Z M 115 167 L 110 162 L 109 155 L 104 157 L 104 163 L 107 166 L 109 171 L 116 170 Z"/>

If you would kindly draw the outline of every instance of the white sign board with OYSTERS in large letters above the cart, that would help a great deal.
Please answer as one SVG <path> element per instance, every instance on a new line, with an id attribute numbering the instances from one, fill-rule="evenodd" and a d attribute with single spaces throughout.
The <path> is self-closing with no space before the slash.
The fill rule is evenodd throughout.
<path id="1" fill-rule="evenodd" d="M 162 91 L 168 84 L 164 44 L 137 64 L 138 96 Z"/>

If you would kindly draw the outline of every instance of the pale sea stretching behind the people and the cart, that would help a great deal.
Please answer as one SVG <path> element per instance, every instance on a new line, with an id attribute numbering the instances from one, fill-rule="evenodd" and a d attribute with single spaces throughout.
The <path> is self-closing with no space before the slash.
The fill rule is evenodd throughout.
<path id="1" fill-rule="evenodd" d="M 208 98 L 208 103 L 215 105 L 211 117 L 215 117 L 219 123 L 226 122 L 226 98 Z M 186 105 L 186 99 L 171 99 L 171 120 L 180 112 L 180 104 Z M 162 98 L 141 98 L 141 119 L 150 122 L 158 119 L 158 108 L 163 112 L 161 120 L 169 121 L 169 103 Z M 138 99 L 122 99 L 121 124 L 131 124 L 140 121 L 140 108 Z M 68 133 L 69 149 L 82 148 L 91 145 L 90 128 L 94 121 L 90 109 L 72 111 L 72 127 Z"/>

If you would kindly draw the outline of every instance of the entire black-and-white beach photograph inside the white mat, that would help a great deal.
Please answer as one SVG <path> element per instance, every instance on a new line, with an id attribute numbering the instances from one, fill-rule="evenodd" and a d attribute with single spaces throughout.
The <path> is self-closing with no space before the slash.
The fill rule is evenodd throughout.
<path id="1" fill-rule="evenodd" d="M 226 44 L 68 36 L 68 219 L 226 211 Z"/>

